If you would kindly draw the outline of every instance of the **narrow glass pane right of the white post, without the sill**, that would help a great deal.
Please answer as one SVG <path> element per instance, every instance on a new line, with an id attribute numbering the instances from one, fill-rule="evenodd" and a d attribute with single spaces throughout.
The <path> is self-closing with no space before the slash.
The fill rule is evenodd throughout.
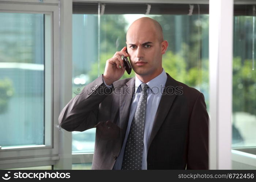
<path id="1" fill-rule="evenodd" d="M 234 17 L 233 148 L 256 146 L 256 70 L 254 63 L 256 36 L 254 21 L 253 16 Z"/>

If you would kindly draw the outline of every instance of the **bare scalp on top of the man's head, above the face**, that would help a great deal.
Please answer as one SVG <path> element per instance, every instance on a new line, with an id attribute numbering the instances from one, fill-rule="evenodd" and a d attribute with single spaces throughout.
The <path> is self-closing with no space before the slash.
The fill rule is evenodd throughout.
<path id="1" fill-rule="evenodd" d="M 161 25 L 158 23 L 158 21 L 149 17 L 142 17 L 133 21 L 133 23 L 128 28 L 126 39 L 128 36 L 131 36 L 131 34 L 142 31 L 153 33 L 155 36 L 157 36 L 159 43 L 163 41 L 163 29 Z"/>

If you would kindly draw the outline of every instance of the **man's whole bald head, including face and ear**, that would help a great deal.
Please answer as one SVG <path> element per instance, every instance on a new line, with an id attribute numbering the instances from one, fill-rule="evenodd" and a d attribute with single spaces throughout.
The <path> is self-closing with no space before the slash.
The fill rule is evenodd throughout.
<path id="1" fill-rule="evenodd" d="M 126 34 L 127 51 L 132 69 L 144 83 L 161 74 L 162 55 L 168 42 L 163 40 L 161 25 L 148 17 L 134 21 Z"/>

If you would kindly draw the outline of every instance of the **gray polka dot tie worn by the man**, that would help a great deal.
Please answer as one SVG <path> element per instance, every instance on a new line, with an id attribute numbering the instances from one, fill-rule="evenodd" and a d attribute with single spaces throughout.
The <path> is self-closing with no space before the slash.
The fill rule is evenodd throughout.
<path id="1" fill-rule="evenodd" d="M 144 123 L 146 118 L 147 89 L 149 87 L 146 83 L 142 83 L 141 88 L 142 93 L 125 146 L 123 170 L 140 170 L 142 167 Z"/>

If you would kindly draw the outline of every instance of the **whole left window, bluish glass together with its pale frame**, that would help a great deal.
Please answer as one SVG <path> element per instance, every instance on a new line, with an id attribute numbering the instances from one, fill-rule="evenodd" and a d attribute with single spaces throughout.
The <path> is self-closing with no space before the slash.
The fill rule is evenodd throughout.
<path id="1" fill-rule="evenodd" d="M 0 7 L 0 169 L 51 166 L 59 159 L 58 5 Z"/>

